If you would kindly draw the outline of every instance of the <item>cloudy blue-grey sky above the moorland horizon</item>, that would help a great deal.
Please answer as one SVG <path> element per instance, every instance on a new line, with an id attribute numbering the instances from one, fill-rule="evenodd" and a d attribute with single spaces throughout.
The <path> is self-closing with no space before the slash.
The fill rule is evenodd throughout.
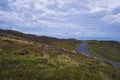
<path id="1" fill-rule="evenodd" d="M 0 29 L 120 40 L 120 0 L 0 0 Z"/>

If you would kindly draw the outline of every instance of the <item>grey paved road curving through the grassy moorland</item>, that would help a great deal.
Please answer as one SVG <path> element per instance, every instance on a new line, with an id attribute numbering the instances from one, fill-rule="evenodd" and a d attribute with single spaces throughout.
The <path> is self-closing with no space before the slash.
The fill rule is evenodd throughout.
<path id="1" fill-rule="evenodd" d="M 83 55 L 85 55 L 85 56 L 95 57 L 95 56 L 93 56 L 93 55 L 89 52 L 86 42 L 81 43 L 81 44 L 77 47 L 76 52 L 81 53 L 81 54 L 83 54 Z M 101 61 L 104 61 L 104 62 L 106 62 L 106 63 L 108 63 L 108 64 L 111 64 L 111 65 L 113 65 L 113 66 L 115 66 L 115 67 L 120 68 L 120 63 L 119 63 L 119 62 L 111 62 L 111 61 L 102 60 L 102 59 L 100 59 L 100 60 L 101 60 Z"/>

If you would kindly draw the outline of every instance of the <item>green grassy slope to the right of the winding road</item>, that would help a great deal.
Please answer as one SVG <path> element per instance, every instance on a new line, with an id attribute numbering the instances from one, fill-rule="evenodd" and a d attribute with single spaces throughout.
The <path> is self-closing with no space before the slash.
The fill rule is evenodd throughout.
<path id="1" fill-rule="evenodd" d="M 97 57 L 120 62 L 120 43 L 115 41 L 94 41 L 89 50 Z"/>

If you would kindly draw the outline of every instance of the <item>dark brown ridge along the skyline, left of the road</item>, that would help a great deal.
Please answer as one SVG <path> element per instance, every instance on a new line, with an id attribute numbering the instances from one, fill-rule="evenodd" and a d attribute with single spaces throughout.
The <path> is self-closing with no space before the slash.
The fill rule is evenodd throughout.
<path id="1" fill-rule="evenodd" d="M 58 38 L 54 38 L 54 37 L 47 37 L 47 36 L 36 36 L 36 35 L 32 35 L 32 34 L 24 34 L 22 32 L 18 32 L 18 31 L 13 31 L 13 30 L 2 30 L 0 29 L 0 36 L 16 36 L 28 41 L 34 41 L 34 42 L 43 42 L 43 43 L 47 43 L 47 42 L 53 42 L 53 41 L 65 41 L 65 40 L 69 40 L 69 41 L 73 41 L 73 42 L 77 42 L 78 40 L 76 39 L 58 39 Z"/>

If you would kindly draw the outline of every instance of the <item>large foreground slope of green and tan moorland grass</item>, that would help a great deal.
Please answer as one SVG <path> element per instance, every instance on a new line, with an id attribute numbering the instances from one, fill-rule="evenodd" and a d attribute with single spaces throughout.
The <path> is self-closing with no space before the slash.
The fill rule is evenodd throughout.
<path id="1" fill-rule="evenodd" d="M 0 80 L 120 80 L 119 74 L 119 69 L 69 48 L 0 37 Z"/>

